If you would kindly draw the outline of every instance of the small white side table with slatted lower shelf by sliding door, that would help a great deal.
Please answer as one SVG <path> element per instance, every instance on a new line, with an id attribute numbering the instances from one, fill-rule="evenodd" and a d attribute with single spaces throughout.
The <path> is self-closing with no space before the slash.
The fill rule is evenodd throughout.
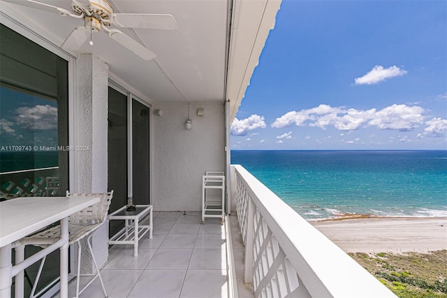
<path id="1" fill-rule="evenodd" d="M 149 225 L 140 225 L 140 220 L 149 214 Z M 149 231 L 152 238 L 152 205 L 137 205 L 135 211 L 126 211 L 126 206 L 108 215 L 109 220 L 124 220 L 124 227 L 113 235 L 109 244 L 133 244 L 133 256 L 138 257 L 138 241 Z"/>

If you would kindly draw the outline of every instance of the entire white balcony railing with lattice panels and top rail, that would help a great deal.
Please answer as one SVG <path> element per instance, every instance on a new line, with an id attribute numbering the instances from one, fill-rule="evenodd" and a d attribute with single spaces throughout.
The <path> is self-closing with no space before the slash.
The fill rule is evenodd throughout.
<path id="1" fill-rule="evenodd" d="M 255 297 L 395 297 L 242 166 L 231 176 Z"/>

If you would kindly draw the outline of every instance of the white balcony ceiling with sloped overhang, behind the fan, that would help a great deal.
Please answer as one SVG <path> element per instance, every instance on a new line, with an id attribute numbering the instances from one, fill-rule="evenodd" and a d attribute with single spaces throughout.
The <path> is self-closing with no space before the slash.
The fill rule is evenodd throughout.
<path id="1" fill-rule="evenodd" d="M 71 11 L 71 0 L 38 1 Z M 71 52 L 71 55 L 93 52 L 110 65 L 112 78 L 122 80 L 152 102 L 223 102 L 227 92 L 233 117 L 258 63 L 280 3 L 279 0 L 234 1 L 230 45 L 230 0 L 108 1 L 117 8 L 115 13 L 173 15 L 178 30 L 119 28 L 156 54 L 156 58 L 150 61 L 134 55 L 104 32 L 93 34 L 93 46 L 87 42 L 80 52 Z M 8 17 L 25 24 L 58 47 L 76 26 L 83 25 L 82 20 L 72 17 L 3 1 L 0 3 L 1 10 Z"/>

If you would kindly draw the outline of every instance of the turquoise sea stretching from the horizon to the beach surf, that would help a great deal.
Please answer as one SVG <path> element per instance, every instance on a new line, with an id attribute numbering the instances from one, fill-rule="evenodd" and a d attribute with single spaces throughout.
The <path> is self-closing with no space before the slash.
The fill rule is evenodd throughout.
<path id="1" fill-rule="evenodd" d="M 447 216 L 447 151 L 231 151 L 308 220 Z"/>

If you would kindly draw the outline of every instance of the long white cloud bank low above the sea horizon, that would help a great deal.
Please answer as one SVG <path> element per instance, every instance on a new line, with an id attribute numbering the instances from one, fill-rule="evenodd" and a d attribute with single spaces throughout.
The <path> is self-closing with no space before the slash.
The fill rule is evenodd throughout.
<path id="1" fill-rule="evenodd" d="M 291 111 L 277 118 L 272 127 L 281 128 L 295 123 L 297 126 L 326 127 L 332 126 L 338 130 L 347 130 L 351 134 L 353 130 L 362 125 L 376 126 L 379 129 L 411 130 L 423 123 L 422 113 L 425 110 L 420 106 L 406 106 L 393 104 L 380 111 L 375 108 L 369 110 L 356 110 L 355 108 L 333 108 L 321 104 L 316 108 L 309 108 L 299 112 Z M 343 134 L 340 134 L 343 136 Z"/>

